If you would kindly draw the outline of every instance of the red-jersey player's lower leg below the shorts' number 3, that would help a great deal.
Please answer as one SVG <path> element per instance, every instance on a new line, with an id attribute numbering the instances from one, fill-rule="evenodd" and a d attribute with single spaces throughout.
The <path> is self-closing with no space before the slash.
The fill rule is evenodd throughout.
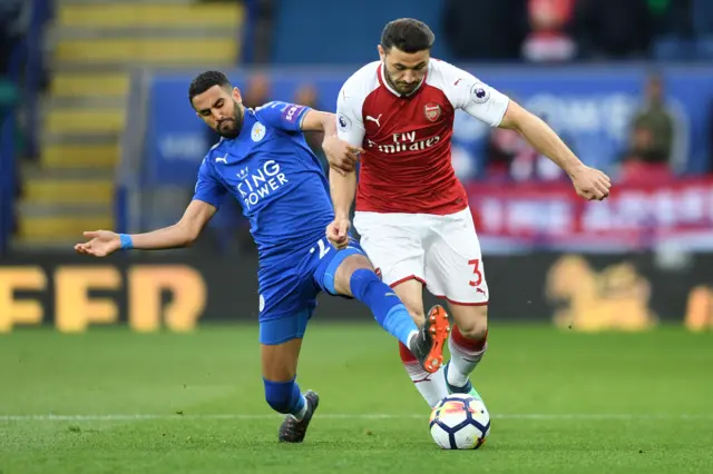
<path id="1" fill-rule="evenodd" d="M 488 307 L 450 304 L 450 309 L 456 325 L 448 339 L 451 354 L 446 365 L 448 391 L 481 398 L 469 376 L 488 348 Z"/>

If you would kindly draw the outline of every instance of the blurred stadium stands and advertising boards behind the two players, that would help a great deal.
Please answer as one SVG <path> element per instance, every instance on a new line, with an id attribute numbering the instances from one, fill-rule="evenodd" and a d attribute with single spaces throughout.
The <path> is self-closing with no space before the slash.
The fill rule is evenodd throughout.
<path id="1" fill-rule="evenodd" d="M 76 295 L 99 285 L 116 306 L 74 317 L 131 319 L 131 304 L 152 305 L 129 304 L 137 266 L 199 282 L 196 322 L 254 320 L 256 257 L 234 203 L 189 250 L 97 261 L 71 245 L 85 229 L 178 218 L 216 139 L 186 100 L 197 71 L 227 71 L 248 106 L 333 110 L 342 81 L 377 58 L 383 24 L 406 16 L 433 28 L 434 57 L 521 101 L 614 178 L 609 200 L 580 203 L 518 137 L 458 116 L 453 165 L 482 240 L 492 317 L 576 319 L 580 329 L 713 325 L 710 2 L 6 0 L 0 330 L 52 323 L 57 293 L 75 282 L 60 285 L 64 270 L 79 273 Z M 649 107 L 656 89 L 661 106 Z M 309 138 L 319 152 L 321 137 Z M 169 284 L 182 283 L 159 286 L 162 305 Z M 368 318 L 359 305 L 322 304 L 324 319 Z"/>

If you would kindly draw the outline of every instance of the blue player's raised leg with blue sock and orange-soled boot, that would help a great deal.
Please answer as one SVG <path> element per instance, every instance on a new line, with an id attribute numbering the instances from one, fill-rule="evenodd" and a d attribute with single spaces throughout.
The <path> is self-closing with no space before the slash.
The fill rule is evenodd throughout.
<path id="1" fill-rule="evenodd" d="M 374 273 L 369 259 L 361 254 L 346 257 L 334 275 L 334 289 L 353 296 L 371 309 L 377 322 L 411 350 L 428 373 L 443 363 L 443 347 L 450 325 L 441 306 L 436 306 L 420 329 L 393 290 Z"/>

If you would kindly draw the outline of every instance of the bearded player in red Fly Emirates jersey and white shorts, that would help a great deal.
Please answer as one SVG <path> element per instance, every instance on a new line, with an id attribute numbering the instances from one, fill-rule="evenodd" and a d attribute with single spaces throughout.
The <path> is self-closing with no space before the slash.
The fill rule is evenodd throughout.
<path id="1" fill-rule="evenodd" d="M 469 376 L 486 352 L 488 335 L 480 245 L 466 190 L 451 165 L 456 109 L 491 127 L 519 131 L 567 172 L 583 198 L 602 200 L 611 187 L 605 174 L 585 166 L 543 120 L 469 72 L 431 58 L 433 40 L 421 21 L 392 21 L 381 36 L 380 60 L 343 85 L 338 138 L 364 151 L 360 157 L 331 154 L 343 158 L 330 162 L 332 176 L 342 176 L 331 180 L 335 219 L 326 229 L 335 246 L 348 245 L 355 194 L 361 245 L 416 322 L 424 320 L 424 286 L 448 300 L 456 325 L 446 366 L 428 374 L 400 347 L 407 372 L 431 406 L 448 393 L 480 398 Z M 344 144 L 335 137 L 333 146 Z"/>

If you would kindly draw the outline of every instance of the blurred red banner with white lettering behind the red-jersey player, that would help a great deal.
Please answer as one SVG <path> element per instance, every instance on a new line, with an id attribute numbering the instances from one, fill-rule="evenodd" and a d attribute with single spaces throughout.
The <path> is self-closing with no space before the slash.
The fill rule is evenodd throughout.
<path id="1" fill-rule="evenodd" d="M 485 250 L 514 247 L 713 249 L 713 177 L 615 185 L 585 201 L 568 181 L 467 187 Z"/>

